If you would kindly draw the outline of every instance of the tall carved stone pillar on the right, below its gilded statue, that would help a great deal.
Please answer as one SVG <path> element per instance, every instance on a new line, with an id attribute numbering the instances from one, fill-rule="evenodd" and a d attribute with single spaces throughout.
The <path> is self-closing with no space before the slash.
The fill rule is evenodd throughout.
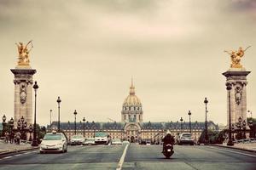
<path id="1" fill-rule="evenodd" d="M 247 122 L 247 75 L 251 71 L 246 71 L 244 68 L 230 68 L 223 73 L 226 77 L 226 82 L 232 85 L 230 90 L 230 107 L 229 107 L 229 92 L 227 92 L 227 125 L 229 126 L 231 117 L 231 125 L 238 122 L 241 116 L 242 121 Z M 229 116 L 231 111 L 231 116 Z"/>

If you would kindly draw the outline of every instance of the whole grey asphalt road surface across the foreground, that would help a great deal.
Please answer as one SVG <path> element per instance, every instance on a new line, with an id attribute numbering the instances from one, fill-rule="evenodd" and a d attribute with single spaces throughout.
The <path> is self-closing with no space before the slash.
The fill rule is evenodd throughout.
<path id="1" fill-rule="evenodd" d="M 39 154 L 38 150 L 0 156 L 2 169 L 246 169 L 256 170 L 256 154 L 211 146 L 177 146 L 171 159 L 160 145 L 69 146 L 67 153 Z M 125 155 L 124 163 L 120 161 Z"/>

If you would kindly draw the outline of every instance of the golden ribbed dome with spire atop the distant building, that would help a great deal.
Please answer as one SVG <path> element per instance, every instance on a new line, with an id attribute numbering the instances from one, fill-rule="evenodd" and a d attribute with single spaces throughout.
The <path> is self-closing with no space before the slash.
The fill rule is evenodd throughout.
<path id="1" fill-rule="evenodd" d="M 135 95 L 135 88 L 133 86 L 133 81 L 131 80 L 130 95 L 125 98 L 124 106 L 141 106 L 142 103 L 140 99 Z"/>

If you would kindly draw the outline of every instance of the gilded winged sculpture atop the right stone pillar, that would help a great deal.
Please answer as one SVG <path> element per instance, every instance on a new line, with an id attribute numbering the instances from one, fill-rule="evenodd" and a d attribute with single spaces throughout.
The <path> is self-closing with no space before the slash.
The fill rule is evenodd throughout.
<path id="1" fill-rule="evenodd" d="M 247 48 L 250 48 L 250 47 L 251 46 L 248 46 Z M 231 58 L 231 65 L 230 65 L 230 67 L 231 68 L 242 68 L 242 65 L 241 65 L 240 61 L 241 61 L 241 58 L 244 55 L 244 52 L 247 50 L 247 48 L 242 49 L 240 47 L 240 48 L 238 48 L 237 51 L 233 51 L 233 50 L 227 51 L 227 50 L 224 50 L 225 53 L 230 54 L 230 58 Z"/>

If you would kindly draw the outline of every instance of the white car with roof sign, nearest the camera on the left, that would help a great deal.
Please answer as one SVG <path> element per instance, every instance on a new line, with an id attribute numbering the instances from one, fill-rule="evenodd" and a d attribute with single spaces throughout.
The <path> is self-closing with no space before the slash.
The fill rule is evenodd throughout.
<path id="1" fill-rule="evenodd" d="M 40 153 L 49 151 L 67 152 L 67 137 L 64 133 L 46 133 L 40 144 Z"/>

